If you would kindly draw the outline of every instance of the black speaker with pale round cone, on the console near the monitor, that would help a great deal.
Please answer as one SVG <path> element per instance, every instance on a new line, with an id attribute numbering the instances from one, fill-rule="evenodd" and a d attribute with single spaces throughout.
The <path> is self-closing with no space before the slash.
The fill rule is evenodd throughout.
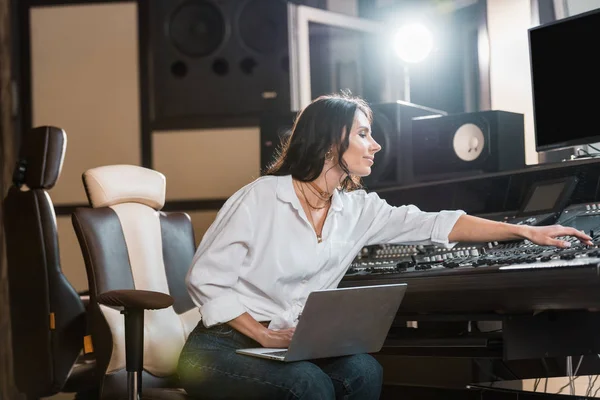
<path id="1" fill-rule="evenodd" d="M 479 111 L 412 121 L 413 172 L 431 181 L 525 167 L 523 114 Z"/>

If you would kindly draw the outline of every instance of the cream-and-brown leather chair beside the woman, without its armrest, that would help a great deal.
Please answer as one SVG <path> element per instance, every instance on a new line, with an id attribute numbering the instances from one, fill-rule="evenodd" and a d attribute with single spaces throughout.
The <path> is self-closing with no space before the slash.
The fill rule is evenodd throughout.
<path id="1" fill-rule="evenodd" d="M 101 397 L 124 395 L 124 320 L 119 310 L 99 305 L 109 290 L 139 289 L 168 293 L 172 307 L 144 315 L 144 389 L 177 387 L 176 367 L 200 314 L 185 276 L 195 251 L 194 233 L 185 213 L 161 212 L 163 174 L 133 165 L 110 165 L 86 171 L 83 184 L 92 208 L 78 208 L 73 226 L 81 246 L 90 287 L 92 337 Z"/>

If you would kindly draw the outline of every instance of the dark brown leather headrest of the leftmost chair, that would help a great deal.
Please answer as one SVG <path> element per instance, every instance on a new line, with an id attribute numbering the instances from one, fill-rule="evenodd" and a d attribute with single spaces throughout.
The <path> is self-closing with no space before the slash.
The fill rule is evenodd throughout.
<path id="1" fill-rule="evenodd" d="M 51 189 L 65 159 L 67 134 L 55 126 L 39 126 L 21 137 L 13 183 L 30 189 Z"/>

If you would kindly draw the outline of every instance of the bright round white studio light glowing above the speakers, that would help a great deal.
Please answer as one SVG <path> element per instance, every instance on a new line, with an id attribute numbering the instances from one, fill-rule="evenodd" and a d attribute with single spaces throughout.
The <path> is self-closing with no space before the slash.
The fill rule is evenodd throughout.
<path id="1" fill-rule="evenodd" d="M 394 39 L 396 54 L 407 63 L 423 61 L 433 49 L 433 36 L 421 24 L 403 26 Z"/>

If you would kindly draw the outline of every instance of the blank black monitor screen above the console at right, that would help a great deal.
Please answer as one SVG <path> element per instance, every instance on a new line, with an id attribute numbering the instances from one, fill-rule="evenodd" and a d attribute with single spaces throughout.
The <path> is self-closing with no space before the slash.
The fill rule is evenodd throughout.
<path id="1" fill-rule="evenodd" d="M 529 29 L 537 151 L 600 141 L 600 9 Z"/>

